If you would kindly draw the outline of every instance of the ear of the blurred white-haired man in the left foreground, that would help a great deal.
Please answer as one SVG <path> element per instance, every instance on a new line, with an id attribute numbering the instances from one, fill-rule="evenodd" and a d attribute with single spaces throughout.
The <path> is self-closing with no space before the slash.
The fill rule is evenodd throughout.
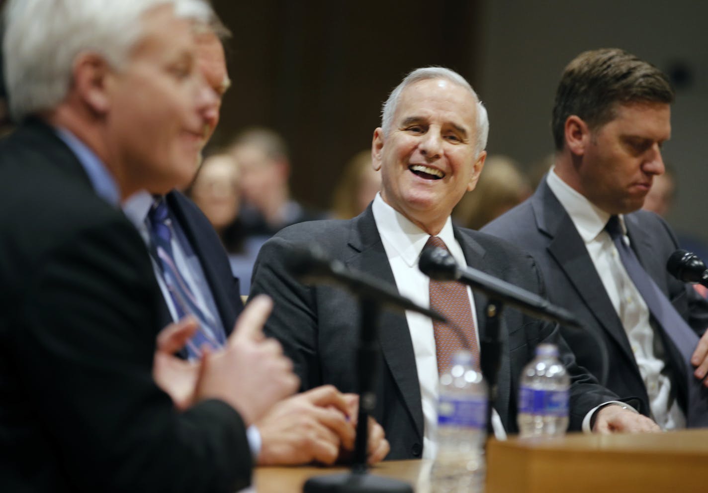
<path id="1" fill-rule="evenodd" d="M 74 62 L 74 90 L 94 113 L 104 114 L 110 108 L 110 77 L 113 70 L 96 53 L 79 55 Z"/>

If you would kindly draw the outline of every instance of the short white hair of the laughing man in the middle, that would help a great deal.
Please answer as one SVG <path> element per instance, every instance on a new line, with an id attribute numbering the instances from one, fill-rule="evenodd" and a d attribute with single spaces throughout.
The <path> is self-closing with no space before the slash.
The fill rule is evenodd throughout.
<path id="1" fill-rule="evenodd" d="M 487 138 L 489 137 L 489 115 L 487 115 L 486 108 L 484 104 L 477 96 L 472 86 L 469 85 L 464 77 L 455 72 L 454 70 L 446 69 L 445 67 L 423 67 L 420 69 L 415 69 L 413 72 L 406 75 L 406 77 L 401 81 L 401 84 L 396 86 L 396 89 L 391 91 L 389 98 L 384 103 L 381 111 L 381 128 L 384 130 L 384 135 L 389 135 L 391 131 L 394 114 L 396 113 L 396 107 L 398 106 L 399 99 L 401 98 L 401 92 L 406 89 L 407 86 L 415 84 L 416 82 L 426 81 L 429 79 L 444 79 L 452 82 L 452 84 L 457 84 L 458 86 L 467 89 L 472 96 L 474 96 L 477 102 L 477 135 L 476 135 L 476 146 L 475 153 L 479 156 L 479 153 L 484 151 L 486 148 Z"/>

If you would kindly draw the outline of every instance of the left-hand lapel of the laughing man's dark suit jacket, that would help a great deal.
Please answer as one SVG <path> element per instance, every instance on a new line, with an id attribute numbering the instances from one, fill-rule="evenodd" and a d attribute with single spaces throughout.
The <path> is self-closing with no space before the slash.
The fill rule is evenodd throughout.
<path id="1" fill-rule="evenodd" d="M 381 242 L 371 205 L 362 215 L 353 221 L 348 241 L 351 254 L 346 258 L 346 265 L 375 276 L 393 286 L 396 285 L 393 271 Z M 399 387 L 404 404 L 418 435 L 423 438 L 423 407 L 421 405 L 421 387 L 418 382 L 416 355 L 413 351 L 411 332 L 403 314 L 382 310 L 379 322 L 379 344 L 382 356 L 396 385 Z"/>

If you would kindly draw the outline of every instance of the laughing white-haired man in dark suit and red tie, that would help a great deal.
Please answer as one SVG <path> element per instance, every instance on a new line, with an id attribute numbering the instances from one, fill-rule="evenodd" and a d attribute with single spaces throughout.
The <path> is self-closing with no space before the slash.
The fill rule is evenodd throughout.
<path id="1" fill-rule="evenodd" d="M 530 256 L 506 242 L 454 227 L 450 213 L 462 195 L 472 191 L 484 165 L 489 123 L 471 86 L 449 69 L 417 69 L 394 89 L 384 105 L 382 126 L 374 131 L 372 161 L 382 172 L 382 191 L 365 212 L 349 221 L 309 222 L 284 229 L 265 243 L 253 271 L 251 295 L 269 293 L 275 310 L 265 333 L 279 339 L 295 363 L 302 388 L 331 383 L 351 390 L 350 362 L 358 331 L 358 306 L 350 295 L 324 286 L 307 288 L 283 265 L 295 244 L 317 242 L 351 268 L 394 283 L 418 304 L 441 310 L 440 286 L 418 271 L 426 244 L 444 244 L 458 263 L 539 293 L 542 283 Z M 509 268 L 513 266 L 513 268 Z M 485 298 L 469 289 L 452 288 L 469 346 L 484 334 L 478 317 Z M 448 297 L 448 301 L 451 298 Z M 476 309 L 473 309 L 475 307 Z M 516 396 L 523 366 L 535 346 L 554 342 L 573 375 L 570 391 L 571 429 L 581 429 L 595 407 L 617 396 L 581 373 L 559 336 L 557 326 L 503 313 L 503 350 L 498 375 L 495 429 L 515 432 Z M 478 329 L 476 329 L 478 328 Z M 388 458 L 431 458 L 435 455 L 438 375 L 447 369 L 442 348 L 450 329 L 417 314 L 382 314 L 378 341 L 384 368 L 377 381 L 374 416 L 391 446 Z M 596 413 L 595 427 L 655 430 L 656 425 L 620 406 Z M 501 431 L 501 430 L 500 430 Z"/>

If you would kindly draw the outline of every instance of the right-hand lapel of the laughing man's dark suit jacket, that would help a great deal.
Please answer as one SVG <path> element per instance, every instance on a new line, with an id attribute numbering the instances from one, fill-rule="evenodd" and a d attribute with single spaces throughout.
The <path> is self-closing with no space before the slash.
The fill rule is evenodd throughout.
<path id="1" fill-rule="evenodd" d="M 484 263 L 486 251 L 483 246 L 474 240 L 474 238 L 464 232 L 463 229 L 455 228 L 455 239 L 464 253 L 464 259 L 467 265 L 477 269 L 478 271 L 489 273 L 491 276 L 503 277 L 503 273 L 490 271 L 488 265 Z M 489 302 L 489 297 L 483 293 L 474 293 L 474 309 L 477 315 L 477 332 L 479 339 L 483 339 L 486 335 L 486 305 Z M 509 309 L 507 309 L 509 310 Z M 506 323 L 507 317 L 501 317 L 499 324 L 499 337 L 501 339 L 499 372 L 497 375 L 497 390 L 494 409 L 499 416 L 508 416 L 509 414 L 509 399 L 511 396 L 511 361 L 509 358 L 509 327 Z M 503 418 L 504 419 L 504 418 Z M 504 423 L 506 429 L 509 429 L 508 424 Z"/>

